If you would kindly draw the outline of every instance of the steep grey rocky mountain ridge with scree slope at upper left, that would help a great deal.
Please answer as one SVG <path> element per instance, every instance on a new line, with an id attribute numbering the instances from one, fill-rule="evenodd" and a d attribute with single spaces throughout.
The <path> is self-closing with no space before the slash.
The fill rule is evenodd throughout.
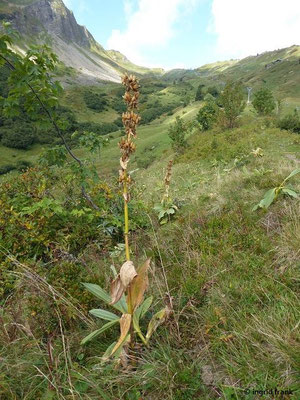
<path id="1" fill-rule="evenodd" d="M 35 42 L 51 45 L 60 61 L 76 71 L 72 83 L 120 82 L 125 71 L 152 72 L 132 64 L 121 53 L 112 57 L 114 51 L 106 51 L 85 26 L 79 25 L 62 0 L 3 0 L 0 20 L 11 22 L 21 34 L 21 48 Z"/>

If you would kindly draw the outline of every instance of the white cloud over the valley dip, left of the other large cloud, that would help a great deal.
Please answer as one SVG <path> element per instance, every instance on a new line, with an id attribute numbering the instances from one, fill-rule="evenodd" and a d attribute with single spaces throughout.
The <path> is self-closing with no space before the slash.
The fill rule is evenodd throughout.
<path id="1" fill-rule="evenodd" d="M 106 47 L 119 50 L 137 64 L 149 66 L 143 53 L 163 48 L 175 35 L 174 23 L 197 1 L 138 0 L 137 9 L 133 11 L 132 0 L 125 0 L 127 27 L 123 32 L 113 30 Z"/>

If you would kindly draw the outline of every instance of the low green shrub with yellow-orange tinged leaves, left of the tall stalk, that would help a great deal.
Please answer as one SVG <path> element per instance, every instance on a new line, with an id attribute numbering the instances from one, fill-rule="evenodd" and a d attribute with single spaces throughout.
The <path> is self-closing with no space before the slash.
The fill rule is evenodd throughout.
<path id="1" fill-rule="evenodd" d="M 25 163 L 22 162 L 23 165 Z M 5 169 L 8 172 L 14 168 L 7 165 L 0 170 Z M 117 188 L 108 187 L 101 182 L 91 191 L 101 207 L 101 215 L 83 207 L 80 191 L 76 190 L 72 181 L 68 181 L 69 177 L 64 177 L 62 171 L 64 170 L 59 168 L 31 168 L 16 177 L 5 178 L 0 185 L 0 219 L 3 220 L 0 236 L 1 244 L 7 252 L 12 253 L 20 262 L 30 263 L 32 259 L 36 260 L 32 269 L 36 270 L 38 266 L 50 262 L 51 268 L 49 264 L 49 268 L 42 271 L 45 278 L 51 277 L 54 286 L 69 290 L 71 285 L 74 288 L 79 287 L 83 275 L 74 272 L 74 279 L 70 277 L 65 285 L 62 276 L 67 273 L 63 270 L 62 262 L 76 262 L 81 249 L 95 241 L 101 243 L 99 246 L 102 250 L 112 243 L 118 243 L 123 209 Z M 67 201 L 47 196 L 56 185 L 60 186 L 62 199 L 68 197 Z M 136 225 L 143 226 L 144 218 L 144 210 L 140 211 L 138 204 L 134 207 L 132 229 L 136 229 Z M 1 253 L 0 264 L 3 265 L 6 259 L 6 253 Z M 15 269 L 15 266 L 9 265 L 9 268 Z M 86 277 L 86 269 L 78 269 L 85 271 Z M 61 275 L 57 280 L 52 275 L 53 270 L 57 270 L 56 275 L 60 271 Z M 0 302 L 1 293 L 8 293 L 14 288 L 14 283 L 10 284 L 11 279 L 6 281 L 5 271 L 5 267 L 0 268 Z M 77 276 L 78 279 L 75 279 Z"/>

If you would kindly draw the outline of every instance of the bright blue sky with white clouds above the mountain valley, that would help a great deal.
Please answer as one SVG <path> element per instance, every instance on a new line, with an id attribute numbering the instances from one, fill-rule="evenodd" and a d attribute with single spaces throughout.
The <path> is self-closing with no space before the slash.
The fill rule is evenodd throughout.
<path id="1" fill-rule="evenodd" d="M 299 0 L 65 0 L 106 49 L 148 67 L 196 68 L 300 44 Z"/>

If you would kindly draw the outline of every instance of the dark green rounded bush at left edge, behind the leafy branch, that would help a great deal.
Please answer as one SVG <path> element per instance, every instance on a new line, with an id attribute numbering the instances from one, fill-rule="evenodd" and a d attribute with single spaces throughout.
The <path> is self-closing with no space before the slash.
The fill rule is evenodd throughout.
<path id="1" fill-rule="evenodd" d="M 6 147 L 26 150 L 34 143 L 34 140 L 33 127 L 29 124 L 14 125 L 13 130 L 8 127 L 2 130 L 1 144 Z"/>

